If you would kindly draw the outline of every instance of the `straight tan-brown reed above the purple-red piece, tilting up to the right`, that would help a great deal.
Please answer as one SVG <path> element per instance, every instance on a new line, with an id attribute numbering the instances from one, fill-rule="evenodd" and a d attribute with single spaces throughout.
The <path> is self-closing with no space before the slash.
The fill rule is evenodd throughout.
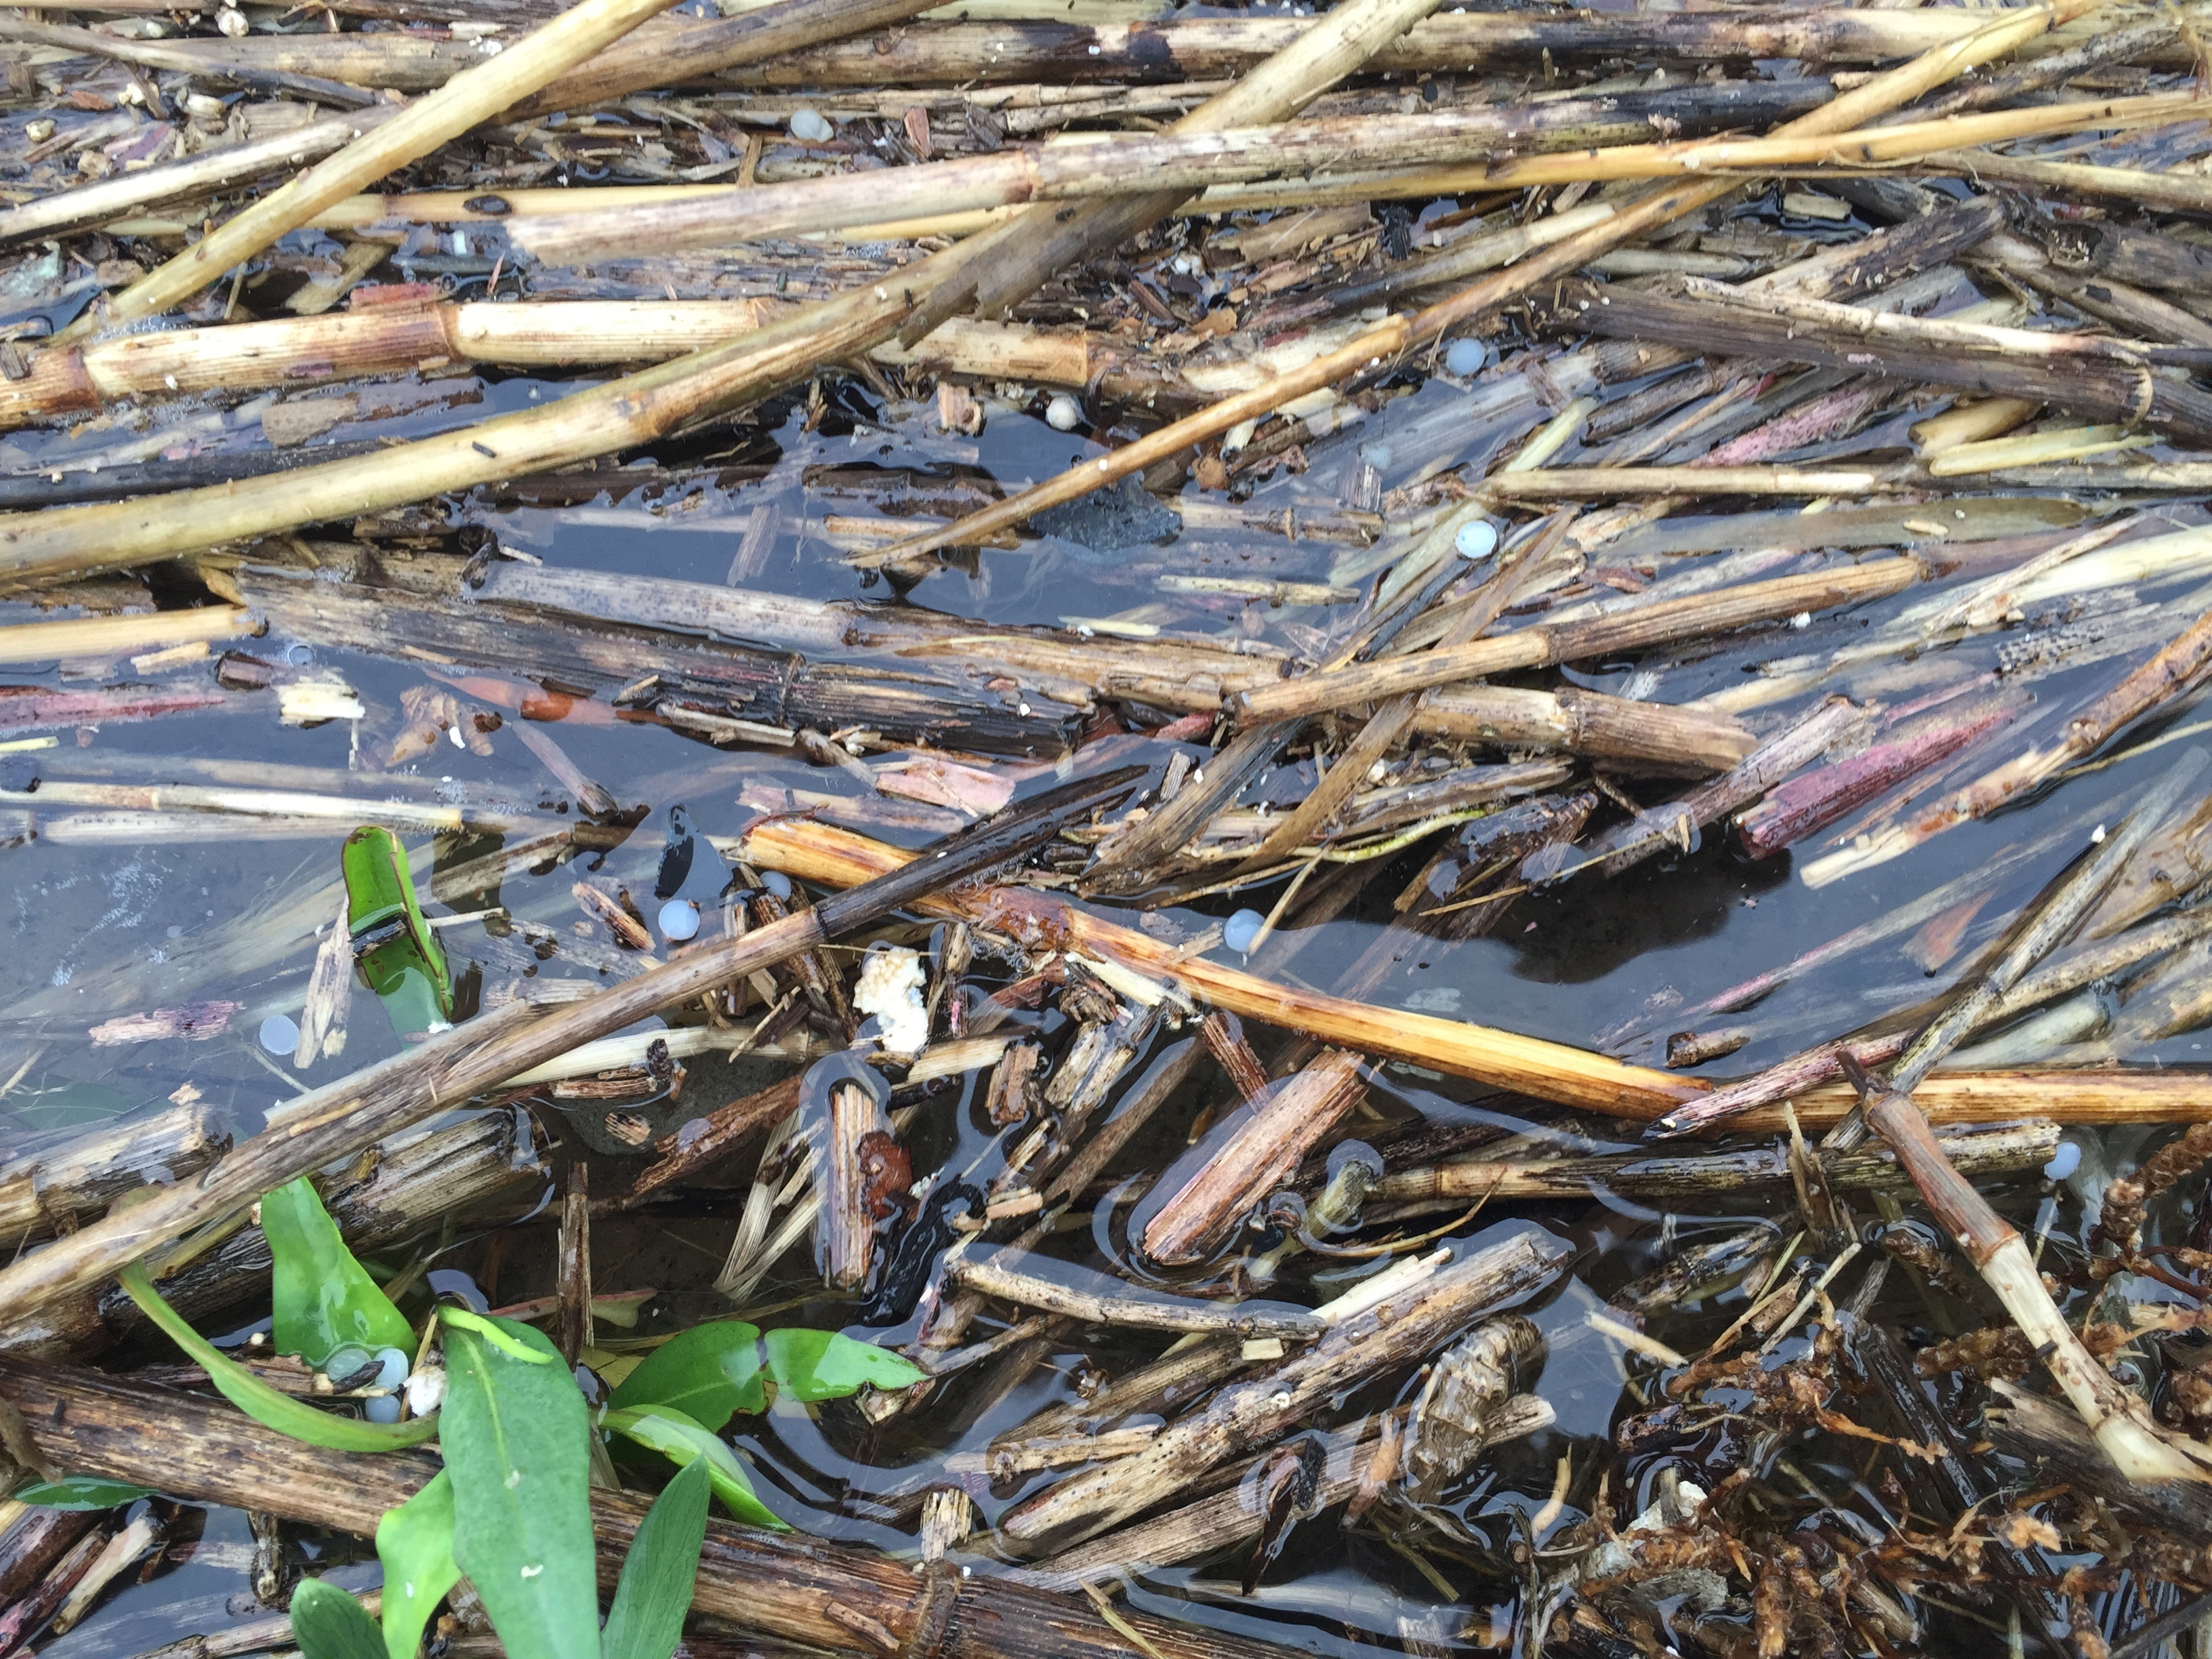
<path id="1" fill-rule="evenodd" d="M 1754 622 L 1774 622 L 1809 611 L 1865 604 L 1902 593 L 1927 575 L 1913 557 L 1869 560 L 1867 564 L 1785 575 L 1772 582 L 1745 582 L 1714 593 L 1692 593 L 1679 599 L 1655 599 L 1608 617 L 1533 624 L 1493 639 L 1464 646 L 1438 646 L 1405 657 L 1385 657 L 1354 668 L 1338 668 L 1303 679 L 1259 686 L 1234 699 L 1239 721 L 1283 721 L 1323 714 L 1332 708 L 1371 703 L 1383 697 L 1449 686 L 1458 679 L 1482 679 L 1517 668 L 1551 668 L 1562 661 L 1604 657 L 1621 650 L 1701 639 Z"/>

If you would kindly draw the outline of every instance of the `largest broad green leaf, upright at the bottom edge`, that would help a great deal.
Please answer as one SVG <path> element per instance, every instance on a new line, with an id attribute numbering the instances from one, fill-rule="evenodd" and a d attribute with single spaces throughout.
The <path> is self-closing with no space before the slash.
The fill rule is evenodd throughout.
<path id="1" fill-rule="evenodd" d="M 438 1444 L 453 1475 L 453 1562 L 515 1659 L 599 1659 L 591 1418 L 555 1347 L 507 1318 L 445 1334 Z"/>

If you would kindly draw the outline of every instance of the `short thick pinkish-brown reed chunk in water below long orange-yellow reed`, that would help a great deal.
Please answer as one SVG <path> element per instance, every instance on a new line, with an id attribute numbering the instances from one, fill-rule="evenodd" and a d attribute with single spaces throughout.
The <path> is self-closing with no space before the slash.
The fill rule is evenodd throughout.
<path id="1" fill-rule="evenodd" d="M 1210 1261 L 1365 1097 L 1360 1057 L 1345 1048 L 1323 1048 L 1270 1084 L 1159 1179 L 1168 1199 L 1144 1225 L 1144 1254 L 1164 1267 Z"/>

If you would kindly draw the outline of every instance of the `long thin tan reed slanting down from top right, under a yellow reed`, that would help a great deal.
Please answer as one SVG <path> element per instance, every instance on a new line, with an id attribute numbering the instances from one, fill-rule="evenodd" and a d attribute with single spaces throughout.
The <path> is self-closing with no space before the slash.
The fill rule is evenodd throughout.
<path id="1" fill-rule="evenodd" d="M 2055 24 L 2095 11 L 2097 4 L 2099 0 L 2057 0 L 2055 4 L 2035 4 L 2008 11 L 1969 35 L 1924 51 L 1913 58 L 1913 62 L 1840 93 L 1827 106 L 1778 128 L 1776 137 L 1834 135 L 1869 124 L 1876 117 L 1949 84 L 1969 69 L 2008 55 L 2037 35 L 2048 33 Z M 1194 445 L 1217 438 L 1243 420 L 1263 420 L 1285 403 L 1292 403 L 1307 392 L 1321 392 L 1323 387 L 1336 385 L 1354 374 L 1378 369 L 1385 361 L 1391 361 L 1407 349 L 1429 345 L 1431 341 L 1449 334 L 1453 327 L 1464 327 L 1498 305 L 1533 292 L 1537 285 L 1555 276 L 1566 276 L 1586 265 L 1590 259 L 1610 252 L 1626 241 L 1635 241 L 1637 237 L 1644 237 L 1646 232 L 1657 230 L 1686 212 L 1694 212 L 1734 188 L 1734 179 L 1708 179 L 1694 184 L 1668 184 L 1632 197 L 1621 204 L 1621 210 L 1613 219 L 1568 237 L 1566 241 L 1553 243 L 1546 250 L 1533 252 L 1498 276 L 1478 281 L 1462 288 L 1458 294 L 1429 305 L 1418 316 L 1394 316 L 1387 323 L 1358 334 L 1336 352 L 1312 358 L 1303 367 L 1276 376 L 1259 392 L 1243 392 L 1232 398 L 1223 398 L 1199 414 L 1172 420 L 1135 442 L 1121 445 L 1110 456 L 1086 460 L 1082 467 L 1073 467 L 1057 478 L 1018 491 L 995 507 L 969 513 L 967 518 L 960 518 L 945 529 L 929 531 L 927 535 L 909 535 L 902 542 L 894 542 L 885 549 L 885 555 L 891 560 L 905 560 L 920 553 L 933 553 L 945 546 L 971 546 L 989 535 L 995 535 L 998 531 L 1026 522 L 1033 513 L 1046 507 L 1057 507 L 1088 495 L 1095 489 L 1104 489 L 1106 484 L 1113 484 L 1130 473 L 1139 473 L 1161 460 L 1181 458 Z"/>

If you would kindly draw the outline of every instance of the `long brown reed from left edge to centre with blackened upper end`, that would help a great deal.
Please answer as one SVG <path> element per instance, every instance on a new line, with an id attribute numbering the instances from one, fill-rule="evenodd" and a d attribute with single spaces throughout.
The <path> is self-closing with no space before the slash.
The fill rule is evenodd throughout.
<path id="1" fill-rule="evenodd" d="M 542 1018 L 513 1002 L 394 1055 L 363 1073 L 285 1104 L 283 1121 L 217 1159 L 197 1181 L 161 1188 L 128 1210 L 80 1228 L 0 1270 L 0 1332 L 88 1290 L 186 1230 L 239 1210 L 296 1175 L 349 1157 L 422 1117 L 453 1106 L 648 1013 L 688 1002 L 825 940 L 905 909 L 927 894 L 1022 858 L 1064 827 L 1126 796 L 1144 768 L 1046 790 L 925 847 L 894 876 L 810 905 L 783 922 L 721 940 L 648 969 Z"/>

